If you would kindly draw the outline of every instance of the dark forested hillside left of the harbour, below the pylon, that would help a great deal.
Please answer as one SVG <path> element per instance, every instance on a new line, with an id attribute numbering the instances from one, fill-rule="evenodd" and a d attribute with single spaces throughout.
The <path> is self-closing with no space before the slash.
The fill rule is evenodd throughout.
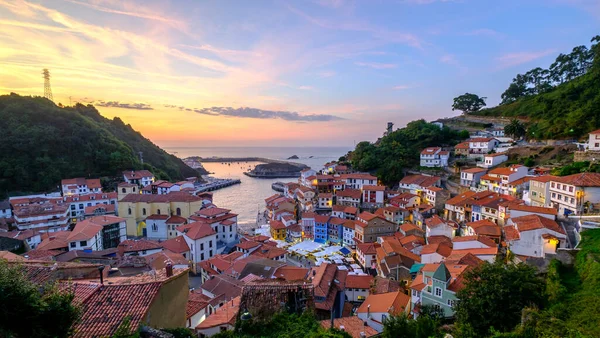
<path id="1" fill-rule="evenodd" d="M 3 95 L 0 130 L 0 196 L 55 190 L 62 178 L 114 177 L 129 169 L 173 180 L 200 174 L 91 105 L 61 108 L 41 97 Z"/>

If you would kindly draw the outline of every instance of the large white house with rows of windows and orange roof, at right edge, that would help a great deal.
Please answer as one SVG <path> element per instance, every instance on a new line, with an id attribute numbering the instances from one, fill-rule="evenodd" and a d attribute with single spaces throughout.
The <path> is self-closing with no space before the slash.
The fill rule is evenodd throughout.
<path id="1" fill-rule="evenodd" d="M 561 216 L 580 215 L 600 202 L 600 173 L 580 173 L 550 181 L 550 202 Z"/>

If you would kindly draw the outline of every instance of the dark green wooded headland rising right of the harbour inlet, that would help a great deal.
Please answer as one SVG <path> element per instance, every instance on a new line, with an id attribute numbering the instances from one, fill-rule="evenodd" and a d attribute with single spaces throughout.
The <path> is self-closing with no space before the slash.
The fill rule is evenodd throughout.
<path id="1" fill-rule="evenodd" d="M 448 127 L 440 129 L 425 120 L 410 122 L 381 138 L 377 143 L 360 142 L 350 155 L 352 167 L 369 171 L 385 184 L 394 185 L 408 168 L 418 167 L 419 154 L 426 147 L 454 146 L 469 137 Z"/>

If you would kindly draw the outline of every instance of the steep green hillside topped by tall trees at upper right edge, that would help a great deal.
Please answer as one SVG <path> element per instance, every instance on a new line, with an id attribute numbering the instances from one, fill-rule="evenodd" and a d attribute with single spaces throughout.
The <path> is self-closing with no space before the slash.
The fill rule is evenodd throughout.
<path id="1" fill-rule="evenodd" d="M 595 37 L 592 43 L 598 42 Z M 472 115 L 522 117 L 531 139 L 571 139 L 600 129 L 600 47 L 578 46 L 549 69 L 519 74 L 502 104 Z"/>

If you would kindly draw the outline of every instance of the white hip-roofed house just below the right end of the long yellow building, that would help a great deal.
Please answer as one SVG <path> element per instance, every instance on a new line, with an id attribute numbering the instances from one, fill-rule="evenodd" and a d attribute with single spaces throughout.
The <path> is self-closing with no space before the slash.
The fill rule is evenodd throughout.
<path id="1" fill-rule="evenodd" d="M 181 225 L 177 228 L 177 233 L 183 235 L 183 239 L 190 248 L 194 269 L 198 262 L 209 259 L 218 253 L 217 233 L 208 223 L 192 222 Z"/>

